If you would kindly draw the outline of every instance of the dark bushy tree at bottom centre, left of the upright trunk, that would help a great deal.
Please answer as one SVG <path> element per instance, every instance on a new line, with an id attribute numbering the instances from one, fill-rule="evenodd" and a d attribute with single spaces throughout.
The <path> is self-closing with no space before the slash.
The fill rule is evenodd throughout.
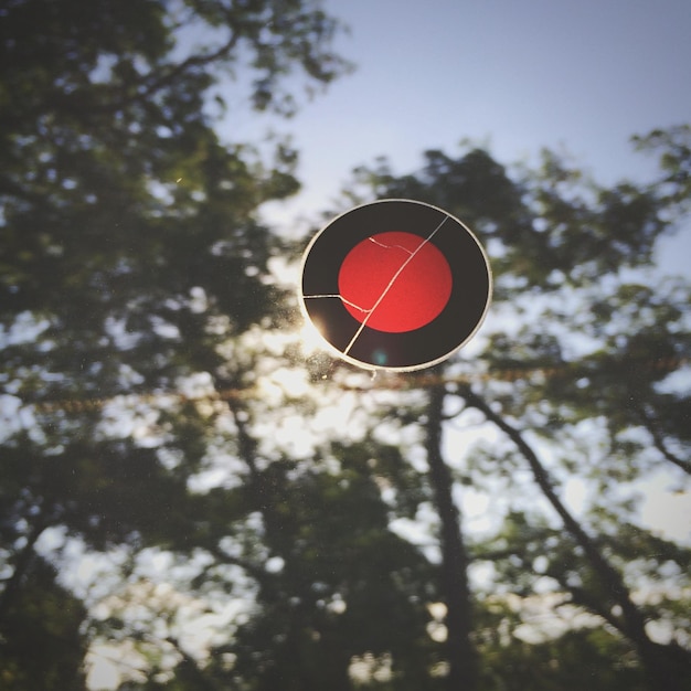
<path id="1" fill-rule="evenodd" d="M 252 444 L 247 434 L 241 424 Z M 352 689 L 351 665 L 368 657 L 391 688 L 434 688 L 430 565 L 387 530 L 391 509 L 371 470 L 374 460 L 386 472 L 401 458 L 371 442 L 329 451 L 338 472 L 325 469 L 327 458 L 302 471 L 287 458 L 259 471 L 256 451 L 244 455 L 262 542 L 279 568 L 262 574 L 261 610 L 217 652 L 234 653 L 233 677 L 257 690 Z"/>

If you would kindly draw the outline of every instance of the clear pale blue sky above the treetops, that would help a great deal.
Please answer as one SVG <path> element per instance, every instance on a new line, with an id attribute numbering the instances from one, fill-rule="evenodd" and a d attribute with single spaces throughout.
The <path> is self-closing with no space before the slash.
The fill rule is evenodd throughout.
<path id="1" fill-rule="evenodd" d="M 457 155 L 464 139 L 503 163 L 534 162 L 549 147 L 600 182 L 645 180 L 652 159 L 635 153 L 630 137 L 691 121 L 690 0 L 323 7 L 350 26 L 337 49 L 355 71 L 283 126 L 300 152 L 304 187 L 281 220 L 332 206 L 352 169 L 378 156 L 406 173 L 424 150 Z M 662 254 L 670 270 L 688 272 L 691 227 Z"/>

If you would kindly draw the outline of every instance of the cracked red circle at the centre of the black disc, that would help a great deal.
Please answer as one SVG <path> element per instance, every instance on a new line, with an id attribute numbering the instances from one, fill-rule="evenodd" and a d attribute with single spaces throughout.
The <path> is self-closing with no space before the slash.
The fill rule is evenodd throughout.
<path id="1" fill-rule="evenodd" d="M 451 295 L 451 269 L 424 237 L 392 231 L 358 243 L 338 276 L 346 309 L 361 323 L 402 333 L 429 323 Z"/>

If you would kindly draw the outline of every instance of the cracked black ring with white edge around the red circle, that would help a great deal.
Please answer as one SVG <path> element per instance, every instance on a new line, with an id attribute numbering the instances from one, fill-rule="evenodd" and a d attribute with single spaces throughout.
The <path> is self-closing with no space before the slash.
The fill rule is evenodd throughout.
<path id="1" fill-rule="evenodd" d="M 453 278 L 442 312 L 425 326 L 402 333 L 362 328 L 334 297 L 339 295 L 341 264 L 350 251 L 389 231 L 428 238 L 446 257 Z M 445 360 L 478 330 L 492 289 L 487 255 L 471 231 L 445 211 L 412 200 L 380 200 L 336 217 L 305 251 L 301 276 L 299 298 L 306 317 L 339 357 L 368 369 L 417 370 Z"/>

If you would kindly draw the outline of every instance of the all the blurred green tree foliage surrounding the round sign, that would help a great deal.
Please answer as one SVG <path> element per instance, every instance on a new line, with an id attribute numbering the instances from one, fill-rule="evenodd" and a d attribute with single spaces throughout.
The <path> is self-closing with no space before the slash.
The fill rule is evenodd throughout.
<path id="1" fill-rule="evenodd" d="M 495 305 L 472 360 L 325 379 L 259 222 L 297 153 L 214 118 L 291 113 L 347 70 L 337 30 L 306 0 L 0 9 L 2 684 L 97 687 L 109 646 L 121 691 L 683 688 L 691 553 L 636 492 L 689 486 L 691 296 L 649 268 L 689 128 L 636 140 L 647 185 L 472 146 L 360 169 L 348 199 L 478 232 Z"/>

